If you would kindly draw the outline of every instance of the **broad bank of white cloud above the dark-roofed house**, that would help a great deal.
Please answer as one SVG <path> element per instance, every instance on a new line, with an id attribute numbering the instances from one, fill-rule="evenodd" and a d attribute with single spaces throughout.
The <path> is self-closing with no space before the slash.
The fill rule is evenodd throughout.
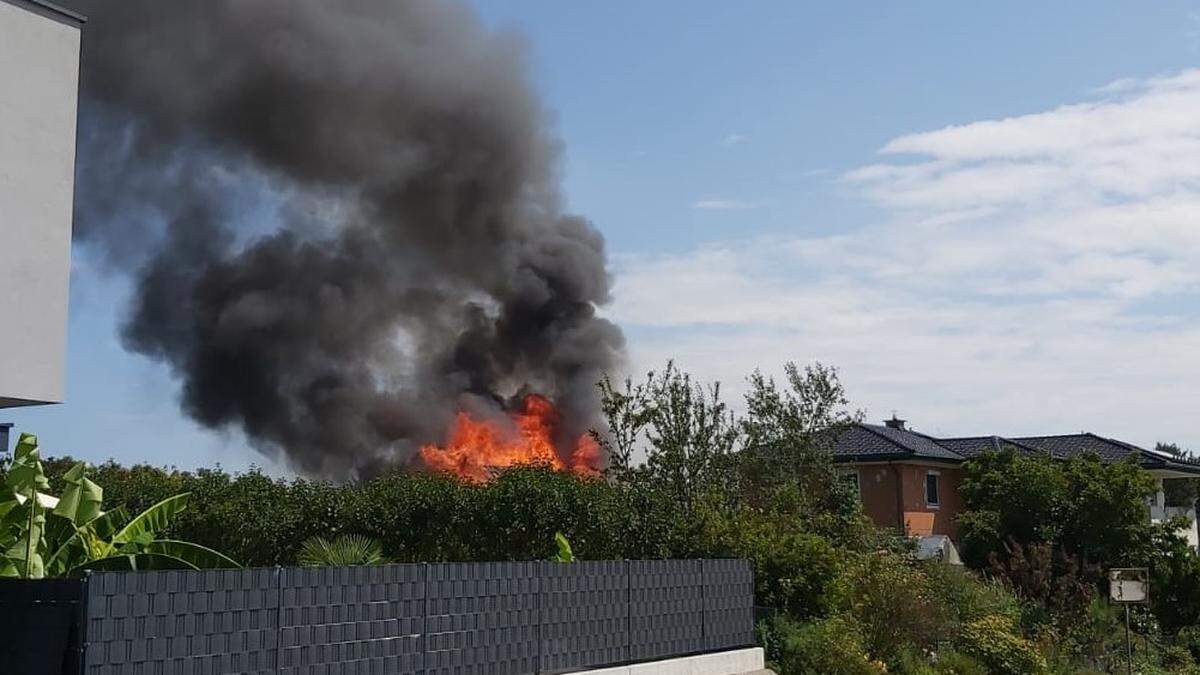
<path id="1" fill-rule="evenodd" d="M 1118 82 L 892 139 L 841 177 L 871 226 L 619 258 L 637 369 L 822 359 L 930 431 L 1200 448 L 1200 71 Z"/>

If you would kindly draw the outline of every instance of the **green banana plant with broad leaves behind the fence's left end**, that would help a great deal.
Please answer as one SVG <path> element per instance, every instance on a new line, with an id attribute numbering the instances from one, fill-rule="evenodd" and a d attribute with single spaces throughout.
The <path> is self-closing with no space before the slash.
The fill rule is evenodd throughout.
<path id="1" fill-rule="evenodd" d="M 158 538 L 187 508 L 188 492 L 130 518 L 104 510 L 104 490 L 77 464 L 62 479 L 61 497 L 46 492 L 37 437 L 22 434 L 0 491 L 0 577 L 70 577 L 85 569 L 202 569 L 240 567 L 191 542 Z"/>

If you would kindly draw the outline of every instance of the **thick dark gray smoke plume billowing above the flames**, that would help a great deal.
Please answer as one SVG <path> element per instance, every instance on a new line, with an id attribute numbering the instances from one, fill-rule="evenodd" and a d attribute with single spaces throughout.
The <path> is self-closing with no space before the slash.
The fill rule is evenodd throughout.
<path id="1" fill-rule="evenodd" d="M 426 0 L 77 0 L 76 237 L 184 411 L 361 476 L 536 390 L 564 437 L 622 358 L 518 38 Z"/>

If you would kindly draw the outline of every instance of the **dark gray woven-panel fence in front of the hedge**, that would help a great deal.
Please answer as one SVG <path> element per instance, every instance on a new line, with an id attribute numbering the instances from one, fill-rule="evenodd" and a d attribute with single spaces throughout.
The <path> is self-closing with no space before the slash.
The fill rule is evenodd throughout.
<path id="1" fill-rule="evenodd" d="M 743 560 L 97 572 L 82 581 L 5 581 L 0 625 L 41 617 L 55 641 L 35 635 L 24 646 L 6 645 L 12 653 L 0 650 L 0 673 L 564 673 L 752 645 L 752 586 Z M 22 658 L 25 665 L 12 669 Z M 29 665 L 37 658 L 41 669 Z"/>

